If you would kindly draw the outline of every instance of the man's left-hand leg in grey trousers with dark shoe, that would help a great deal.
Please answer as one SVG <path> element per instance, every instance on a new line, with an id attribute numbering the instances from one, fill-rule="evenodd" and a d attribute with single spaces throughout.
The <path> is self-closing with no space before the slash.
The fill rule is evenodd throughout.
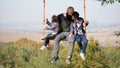
<path id="1" fill-rule="evenodd" d="M 65 35 L 63 33 L 60 33 L 55 37 L 54 49 L 53 49 L 54 57 L 53 57 L 51 63 L 54 63 L 58 59 L 59 42 L 64 38 L 65 38 Z"/>

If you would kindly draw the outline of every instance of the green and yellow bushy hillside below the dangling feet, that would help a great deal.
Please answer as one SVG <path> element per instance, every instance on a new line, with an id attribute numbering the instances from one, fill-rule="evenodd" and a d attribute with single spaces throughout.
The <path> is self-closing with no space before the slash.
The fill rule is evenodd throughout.
<path id="1" fill-rule="evenodd" d="M 75 44 L 72 64 L 66 63 L 69 46 L 60 46 L 60 59 L 51 64 L 53 44 L 50 49 L 40 51 L 41 43 L 25 38 L 16 42 L 0 43 L 0 68 L 120 68 L 120 47 L 99 47 L 98 41 L 89 38 L 87 59 L 79 56 Z"/>

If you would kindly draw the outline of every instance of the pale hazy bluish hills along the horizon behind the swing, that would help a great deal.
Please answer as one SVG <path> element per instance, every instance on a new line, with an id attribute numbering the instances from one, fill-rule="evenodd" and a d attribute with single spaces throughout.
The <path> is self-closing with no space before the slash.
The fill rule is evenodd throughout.
<path id="1" fill-rule="evenodd" d="M 42 22 L 14 22 L 14 23 L 0 23 L 0 30 L 18 30 L 18 31 L 39 31 L 42 32 Z M 88 32 L 95 31 L 118 31 L 120 30 L 120 23 L 101 23 L 89 22 L 87 26 Z"/>

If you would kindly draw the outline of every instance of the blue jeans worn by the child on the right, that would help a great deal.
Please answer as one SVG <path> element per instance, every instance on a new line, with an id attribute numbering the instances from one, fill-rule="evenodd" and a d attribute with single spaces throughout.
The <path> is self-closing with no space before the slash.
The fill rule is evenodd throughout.
<path id="1" fill-rule="evenodd" d="M 86 54 L 86 48 L 87 48 L 87 43 L 88 43 L 88 40 L 86 39 L 86 36 L 84 34 L 76 35 L 75 39 L 76 39 L 76 41 L 78 43 L 78 46 L 81 49 L 81 51 L 84 54 Z M 83 45 L 82 45 L 81 42 L 83 42 Z"/>

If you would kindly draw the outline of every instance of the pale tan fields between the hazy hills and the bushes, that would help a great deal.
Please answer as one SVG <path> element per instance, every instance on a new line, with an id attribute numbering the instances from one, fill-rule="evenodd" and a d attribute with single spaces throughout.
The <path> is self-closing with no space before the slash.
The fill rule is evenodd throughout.
<path id="1" fill-rule="evenodd" d="M 120 37 L 117 37 L 112 32 L 94 32 L 87 33 L 87 38 L 93 36 L 99 40 L 100 46 L 120 46 Z M 27 38 L 40 42 L 41 34 L 38 32 L 23 32 L 23 31 L 0 31 L 0 42 L 16 41 L 20 38 Z"/>

